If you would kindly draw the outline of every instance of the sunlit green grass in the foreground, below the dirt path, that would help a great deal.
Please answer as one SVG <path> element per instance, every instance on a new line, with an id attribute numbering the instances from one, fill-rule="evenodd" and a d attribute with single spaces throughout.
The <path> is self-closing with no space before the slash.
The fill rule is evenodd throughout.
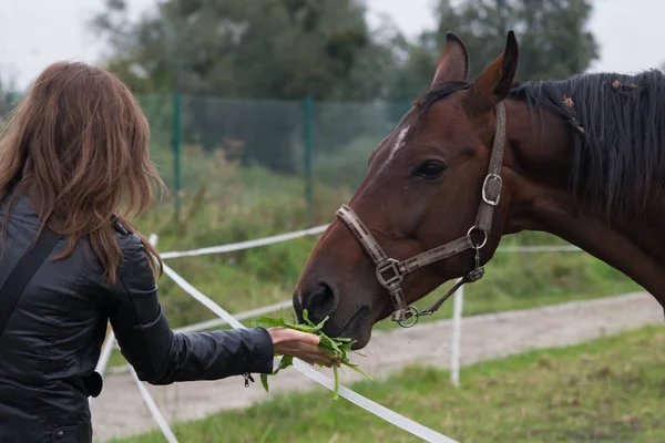
<path id="1" fill-rule="evenodd" d="M 665 327 L 464 368 L 411 367 L 351 388 L 464 443 L 665 441 Z M 329 392 L 277 394 L 243 411 L 180 424 L 188 442 L 417 442 Z M 157 443 L 158 433 L 115 443 Z"/>

